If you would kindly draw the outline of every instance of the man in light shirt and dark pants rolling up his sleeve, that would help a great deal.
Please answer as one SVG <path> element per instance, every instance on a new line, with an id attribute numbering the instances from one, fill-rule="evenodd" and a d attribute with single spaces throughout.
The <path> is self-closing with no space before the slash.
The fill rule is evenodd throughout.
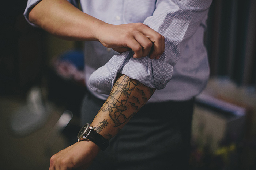
<path id="1" fill-rule="evenodd" d="M 87 0 L 82 12 L 74 0 L 28 1 L 32 25 L 86 41 L 91 94 L 82 122 L 92 122 L 102 140 L 112 138 L 101 152 L 97 140 L 77 142 L 54 155 L 50 169 L 85 168 L 97 155 L 91 169 L 187 168 L 193 97 L 209 74 L 203 35 L 210 4 Z"/>

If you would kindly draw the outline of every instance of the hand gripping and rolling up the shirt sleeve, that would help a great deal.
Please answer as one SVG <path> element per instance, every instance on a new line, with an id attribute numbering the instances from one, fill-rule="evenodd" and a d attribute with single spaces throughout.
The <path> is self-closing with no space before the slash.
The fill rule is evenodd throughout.
<path id="1" fill-rule="evenodd" d="M 143 23 L 112 25 L 105 23 L 98 31 L 103 46 L 117 52 L 132 50 L 134 58 L 159 59 L 165 49 L 164 37 Z"/>

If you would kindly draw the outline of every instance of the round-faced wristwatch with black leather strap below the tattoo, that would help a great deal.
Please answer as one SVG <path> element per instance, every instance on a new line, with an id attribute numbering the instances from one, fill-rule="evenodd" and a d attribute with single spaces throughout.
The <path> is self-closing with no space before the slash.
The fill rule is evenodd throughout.
<path id="1" fill-rule="evenodd" d="M 86 123 L 77 135 L 78 141 L 90 140 L 98 145 L 101 150 L 105 150 L 109 146 L 109 140 L 98 134 L 89 123 Z"/>

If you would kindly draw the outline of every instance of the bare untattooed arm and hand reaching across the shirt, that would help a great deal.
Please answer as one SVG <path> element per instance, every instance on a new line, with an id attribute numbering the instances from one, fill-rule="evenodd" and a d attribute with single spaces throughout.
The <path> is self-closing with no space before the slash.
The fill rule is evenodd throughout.
<path id="1" fill-rule="evenodd" d="M 117 52 L 134 51 L 134 58 L 159 59 L 164 37 L 143 23 L 112 25 L 98 20 L 66 0 L 42 0 L 29 13 L 29 20 L 67 40 L 99 41 Z"/>

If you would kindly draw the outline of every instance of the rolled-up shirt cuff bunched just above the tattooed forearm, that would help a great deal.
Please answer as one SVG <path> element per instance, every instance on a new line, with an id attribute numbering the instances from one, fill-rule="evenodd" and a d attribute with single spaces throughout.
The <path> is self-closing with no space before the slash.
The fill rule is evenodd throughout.
<path id="1" fill-rule="evenodd" d="M 98 68 L 89 78 L 91 90 L 110 94 L 118 73 L 127 75 L 150 88 L 162 89 L 172 78 L 173 67 L 163 60 L 133 58 L 133 51 L 114 55 L 108 63 Z"/>

